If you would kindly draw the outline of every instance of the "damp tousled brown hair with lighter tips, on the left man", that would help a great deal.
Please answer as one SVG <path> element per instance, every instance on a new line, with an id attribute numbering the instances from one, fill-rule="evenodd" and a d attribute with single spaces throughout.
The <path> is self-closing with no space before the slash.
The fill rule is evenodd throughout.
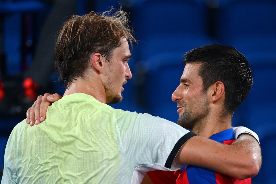
<path id="1" fill-rule="evenodd" d="M 122 37 L 130 42 L 131 47 L 132 41 L 137 42 L 126 13 L 118 10 L 112 14 L 112 11 L 101 15 L 92 11 L 83 16 L 72 16 L 64 23 L 55 45 L 55 67 L 66 89 L 73 79 L 83 77 L 92 53 L 106 56 L 109 62 Z"/>

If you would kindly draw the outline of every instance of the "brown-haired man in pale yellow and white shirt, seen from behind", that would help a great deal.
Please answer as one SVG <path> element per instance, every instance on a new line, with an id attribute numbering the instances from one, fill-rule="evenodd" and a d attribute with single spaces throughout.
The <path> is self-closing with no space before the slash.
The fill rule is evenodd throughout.
<path id="1" fill-rule="evenodd" d="M 260 147 L 249 135 L 224 146 L 168 120 L 106 104 L 120 102 L 132 77 L 128 41 L 135 39 L 122 11 L 111 17 L 91 12 L 64 24 L 55 52 L 64 97 L 33 126 L 34 108 L 46 101 L 40 96 L 28 111 L 32 127 L 26 120 L 16 125 L 2 183 L 140 183 L 147 171 L 183 164 L 238 178 L 258 173 Z M 245 149 L 248 144 L 253 147 Z"/>

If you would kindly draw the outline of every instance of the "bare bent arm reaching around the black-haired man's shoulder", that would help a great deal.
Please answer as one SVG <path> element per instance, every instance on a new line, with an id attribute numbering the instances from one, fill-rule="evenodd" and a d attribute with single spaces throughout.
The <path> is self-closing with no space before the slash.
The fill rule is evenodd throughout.
<path id="1" fill-rule="evenodd" d="M 246 179 L 258 174 L 262 156 L 260 145 L 251 135 L 240 135 L 232 145 L 223 145 L 204 137 L 192 137 L 179 150 L 175 162 Z"/>

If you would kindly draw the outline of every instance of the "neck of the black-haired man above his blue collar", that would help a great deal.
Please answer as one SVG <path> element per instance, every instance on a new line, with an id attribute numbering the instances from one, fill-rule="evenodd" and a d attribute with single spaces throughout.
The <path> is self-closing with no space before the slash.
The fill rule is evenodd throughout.
<path id="1" fill-rule="evenodd" d="M 221 131 L 231 129 L 231 116 L 220 116 L 219 114 L 208 114 L 208 116 L 202 118 L 195 123 L 192 131 L 199 136 L 209 138 L 213 134 Z"/>

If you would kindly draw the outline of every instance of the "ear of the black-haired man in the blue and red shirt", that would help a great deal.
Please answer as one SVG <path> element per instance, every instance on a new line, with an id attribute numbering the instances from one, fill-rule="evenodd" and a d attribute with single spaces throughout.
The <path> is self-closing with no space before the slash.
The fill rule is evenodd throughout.
<path id="1" fill-rule="evenodd" d="M 225 95 L 224 84 L 221 81 L 217 81 L 211 85 L 208 89 L 208 95 L 210 97 L 210 102 L 220 100 Z"/>

